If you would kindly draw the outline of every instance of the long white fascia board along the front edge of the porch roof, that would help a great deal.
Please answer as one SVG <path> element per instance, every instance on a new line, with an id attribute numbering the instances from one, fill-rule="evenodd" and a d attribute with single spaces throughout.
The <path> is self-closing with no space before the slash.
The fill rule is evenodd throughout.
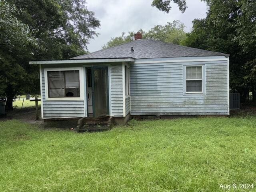
<path id="1" fill-rule="evenodd" d="M 134 58 L 116 58 L 116 59 L 70 59 L 70 60 L 47 60 L 30 61 L 29 64 L 76 64 L 76 63 L 103 63 L 103 62 L 134 62 Z"/>

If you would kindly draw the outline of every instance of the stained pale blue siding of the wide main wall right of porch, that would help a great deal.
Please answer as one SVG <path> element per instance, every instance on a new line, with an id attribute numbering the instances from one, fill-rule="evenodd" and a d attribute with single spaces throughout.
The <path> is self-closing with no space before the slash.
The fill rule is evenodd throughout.
<path id="1" fill-rule="evenodd" d="M 205 65 L 205 94 L 183 93 L 183 65 Z M 132 115 L 228 114 L 226 61 L 130 65 Z"/>

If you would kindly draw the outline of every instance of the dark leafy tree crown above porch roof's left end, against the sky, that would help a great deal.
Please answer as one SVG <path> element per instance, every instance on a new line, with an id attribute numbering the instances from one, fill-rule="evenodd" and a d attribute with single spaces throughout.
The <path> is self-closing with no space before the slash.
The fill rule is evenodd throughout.
<path id="1" fill-rule="evenodd" d="M 24 10 L 17 18 L 28 24 L 40 51 L 37 59 L 64 59 L 84 53 L 88 40 L 100 26 L 85 0 L 8 0 Z"/>

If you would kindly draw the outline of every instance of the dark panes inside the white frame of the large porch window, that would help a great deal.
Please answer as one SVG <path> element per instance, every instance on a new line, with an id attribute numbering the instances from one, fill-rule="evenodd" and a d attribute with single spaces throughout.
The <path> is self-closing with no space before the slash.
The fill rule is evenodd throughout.
<path id="1" fill-rule="evenodd" d="M 48 97 L 80 97 L 79 70 L 48 71 Z"/>

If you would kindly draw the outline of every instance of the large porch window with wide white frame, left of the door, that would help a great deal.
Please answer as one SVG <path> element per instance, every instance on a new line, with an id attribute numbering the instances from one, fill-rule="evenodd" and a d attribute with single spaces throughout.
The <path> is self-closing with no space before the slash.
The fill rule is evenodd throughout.
<path id="1" fill-rule="evenodd" d="M 83 100 L 82 68 L 44 69 L 46 100 Z"/>

